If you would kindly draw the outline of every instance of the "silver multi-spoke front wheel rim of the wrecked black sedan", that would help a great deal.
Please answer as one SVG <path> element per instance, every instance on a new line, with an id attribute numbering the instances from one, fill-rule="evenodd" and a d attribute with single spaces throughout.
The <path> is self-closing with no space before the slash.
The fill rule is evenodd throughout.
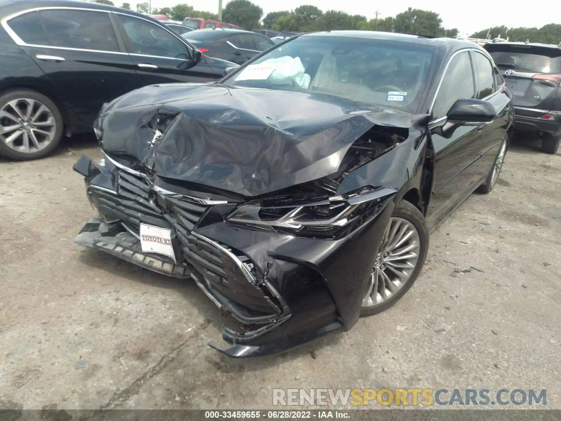
<path id="1" fill-rule="evenodd" d="M 390 219 L 362 307 L 381 304 L 397 294 L 417 266 L 419 246 L 419 232 L 411 222 L 403 218 Z"/>

